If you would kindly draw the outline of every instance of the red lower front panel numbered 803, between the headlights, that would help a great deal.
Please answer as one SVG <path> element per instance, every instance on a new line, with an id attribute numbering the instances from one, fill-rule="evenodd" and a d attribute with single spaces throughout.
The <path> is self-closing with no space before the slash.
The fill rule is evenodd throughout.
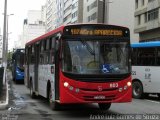
<path id="1" fill-rule="evenodd" d="M 132 100 L 132 87 L 127 86 L 127 82 L 131 82 L 131 76 L 122 81 L 105 83 L 75 81 L 62 73 L 60 76 L 60 103 L 116 103 Z M 68 87 L 64 86 L 65 82 L 69 84 Z M 124 86 L 127 86 L 126 90 Z M 77 88 L 79 92 L 76 92 Z M 120 88 L 123 89 L 122 92 L 119 92 Z"/>

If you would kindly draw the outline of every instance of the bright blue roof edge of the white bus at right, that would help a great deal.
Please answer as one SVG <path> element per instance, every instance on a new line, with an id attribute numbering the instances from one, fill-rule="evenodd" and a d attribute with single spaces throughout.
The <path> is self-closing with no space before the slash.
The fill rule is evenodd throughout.
<path id="1" fill-rule="evenodd" d="M 132 48 L 160 47 L 160 41 L 133 43 L 131 44 L 131 47 Z"/>

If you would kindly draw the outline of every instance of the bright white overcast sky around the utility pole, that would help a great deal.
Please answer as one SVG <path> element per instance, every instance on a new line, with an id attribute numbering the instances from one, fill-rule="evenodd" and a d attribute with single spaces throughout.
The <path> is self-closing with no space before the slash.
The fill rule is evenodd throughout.
<path id="1" fill-rule="evenodd" d="M 3 35 L 3 20 L 4 20 L 4 1 L 0 0 L 0 34 Z M 27 18 L 28 10 L 41 10 L 41 6 L 45 5 L 46 0 L 7 0 L 7 14 L 14 14 L 9 16 L 9 46 L 12 50 L 14 41 L 18 40 L 18 36 L 22 33 L 23 20 Z"/>

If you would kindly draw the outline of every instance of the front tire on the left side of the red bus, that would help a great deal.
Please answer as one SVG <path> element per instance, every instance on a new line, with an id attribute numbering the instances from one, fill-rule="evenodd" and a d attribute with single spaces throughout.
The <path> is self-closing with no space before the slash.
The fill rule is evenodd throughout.
<path id="1" fill-rule="evenodd" d="M 56 101 L 52 101 L 52 91 L 51 88 L 49 89 L 49 94 L 48 94 L 48 101 L 49 101 L 49 106 L 52 110 L 59 110 L 60 105 Z"/>

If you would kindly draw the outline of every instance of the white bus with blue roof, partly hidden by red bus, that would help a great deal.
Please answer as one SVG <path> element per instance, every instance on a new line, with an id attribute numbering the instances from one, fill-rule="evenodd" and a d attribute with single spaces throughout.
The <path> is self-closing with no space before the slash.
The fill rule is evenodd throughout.
<path id="1" fill-rule="evenodd" d="M 142 98 L 148 94 L 160 97 L 160 41 L 131 46 L 133 97 Z"/>

